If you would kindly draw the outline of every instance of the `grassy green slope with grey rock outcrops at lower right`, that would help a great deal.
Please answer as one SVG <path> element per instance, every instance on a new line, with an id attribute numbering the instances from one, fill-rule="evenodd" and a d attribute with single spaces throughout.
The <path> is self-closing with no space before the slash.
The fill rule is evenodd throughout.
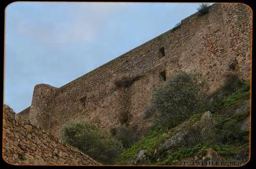
<path id="1" fill-rule="evenodd" d="M 225 97 L 210 98 L 213 106 L 209 110 L 195 113 L 173 128 L 155 127 L 122 152 L 117 163 L 191 165 L 192 161 L 233 161 L 225 165 L 242 165 L 249 158 L 249 90 L 250 85 L 244 83 Z"/>

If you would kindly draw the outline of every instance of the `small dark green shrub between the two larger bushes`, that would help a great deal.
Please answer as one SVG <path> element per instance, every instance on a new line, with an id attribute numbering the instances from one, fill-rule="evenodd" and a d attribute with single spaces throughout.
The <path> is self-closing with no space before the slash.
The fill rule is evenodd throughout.
<path id="1" fill-rule="evenodd" d="M 131 128 L 126 128 L 126 127 L 118 128 L 116 130 L 115 138 L 121 141 L 122 146 L 125 148 L 129 148 L 138 139 L 135 131 L 132 130 Z"/>

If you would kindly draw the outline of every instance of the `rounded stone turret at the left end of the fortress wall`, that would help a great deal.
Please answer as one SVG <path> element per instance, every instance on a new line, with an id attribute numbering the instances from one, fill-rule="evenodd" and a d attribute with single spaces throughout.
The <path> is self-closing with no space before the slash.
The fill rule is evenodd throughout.
<path id="1" fill-rule="evenodd" d="M 37 84 L 34 88 L 29 120 L 44 130 L 48 130 L 50 124 L 55 90 L 55 87 L 48 84 Z"/>

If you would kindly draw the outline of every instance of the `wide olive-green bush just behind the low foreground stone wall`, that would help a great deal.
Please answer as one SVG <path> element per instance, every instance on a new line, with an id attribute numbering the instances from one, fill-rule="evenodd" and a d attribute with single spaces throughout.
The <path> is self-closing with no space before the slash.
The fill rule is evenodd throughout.
<path id="1" fill-rule="evenodd" d="M 122 151 L 120 141 L 111 137 L 106 130 L 101 131 L 99 126 L 88 121 L 69 121 L 61 130 L 63 142 L 86 153 L 96 161 L 104 164 L 115 163 Z"/>

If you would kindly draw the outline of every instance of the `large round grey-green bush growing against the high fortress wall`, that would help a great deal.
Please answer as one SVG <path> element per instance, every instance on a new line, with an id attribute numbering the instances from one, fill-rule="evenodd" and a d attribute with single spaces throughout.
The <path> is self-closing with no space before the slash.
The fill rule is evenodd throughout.
<path id="1" fill-rule="evenodd" d="M 184 117 L 205 108 L 205 82 L 199 74 L 180 72 L 152 92 L 156 123 L 174 127 Z"/>

